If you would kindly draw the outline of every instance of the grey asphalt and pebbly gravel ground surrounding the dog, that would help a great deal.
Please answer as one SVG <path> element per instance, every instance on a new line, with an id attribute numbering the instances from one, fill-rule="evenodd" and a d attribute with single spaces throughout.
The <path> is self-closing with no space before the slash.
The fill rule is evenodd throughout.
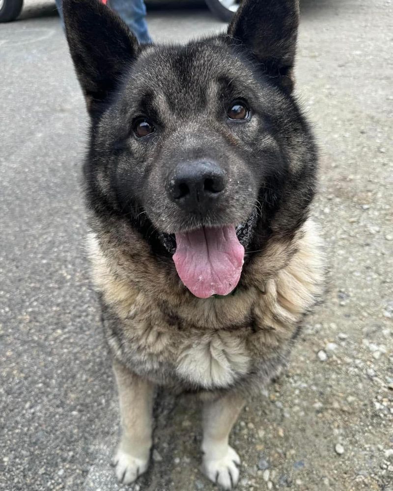
<path id="1" fill-rule="evenodd" d="M 321 147 L 322 305 L 288 373 L 243 411 L 239 490 L 393 490 L 391 0 L 307 0 L 297 95 Z M 203 3 L 155 4 L 159 41 L 224 29 Z M 199 410 L 159 397 L 153 463 L 109 465 L 118 410 L 89 283 L 84 101 L 55 4 L 0 25 L 0 490 L 211 491 Z"/>

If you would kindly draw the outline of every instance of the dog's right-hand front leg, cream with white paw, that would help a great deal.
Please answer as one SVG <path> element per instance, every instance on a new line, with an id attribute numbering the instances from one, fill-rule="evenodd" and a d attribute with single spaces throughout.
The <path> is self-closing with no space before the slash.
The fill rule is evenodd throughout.
<path id="1" fill-rule="evenodd" d="M 229 393 L 203 407 L 202 469 L 225 489 L 232 489 L 239 479 L 240 458 L 228 438 L 243 406 L 242 397 Z"/>

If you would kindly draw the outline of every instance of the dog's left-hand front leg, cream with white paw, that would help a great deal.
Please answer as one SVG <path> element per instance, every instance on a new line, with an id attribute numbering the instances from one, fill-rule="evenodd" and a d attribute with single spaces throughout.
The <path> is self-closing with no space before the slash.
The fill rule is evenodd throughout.
<path id="1" fill-rule="evenodd" d="M 113 370 L 119 392 L 121 439 L 112 463 L 117 479 L 130 484 L 149 464 L 154 386 L 117 361 Z"/>

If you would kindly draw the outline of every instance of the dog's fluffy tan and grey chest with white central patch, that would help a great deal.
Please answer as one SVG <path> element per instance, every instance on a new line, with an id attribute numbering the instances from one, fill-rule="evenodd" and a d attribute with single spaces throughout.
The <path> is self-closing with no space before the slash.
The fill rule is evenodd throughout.
<path id="1" fill-rule="evenodd" d="M 261 365 L 276 363 L 322 291 L 318 236 L 311 223 L 301 232 L 296 254 L 263 281 L 263 293 L 251 287 L 225 301 L 195 299 L 173 305 L 134 287 L 132 272 L 111 265 L 93 240 L 94 283 L 111 307 L 107 334 L 117 358 L 158 383 L 206 389 L 230 386 Z M 276 245 L 270 252 L 276 264 L 282 250 Z M 256 266 L 255 274 L 264 277 Z"/>

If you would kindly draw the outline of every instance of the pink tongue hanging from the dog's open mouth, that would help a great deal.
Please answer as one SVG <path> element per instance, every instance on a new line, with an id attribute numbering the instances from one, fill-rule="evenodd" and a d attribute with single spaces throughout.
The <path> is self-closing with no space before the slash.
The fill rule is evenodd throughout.
<path id="1" fill-rule="evenodd" d="M 200 299 L 228 295 L 242 273 L 244 247 L 233 225 L 176 234 L 173 261 L 180 279 Z"/>

